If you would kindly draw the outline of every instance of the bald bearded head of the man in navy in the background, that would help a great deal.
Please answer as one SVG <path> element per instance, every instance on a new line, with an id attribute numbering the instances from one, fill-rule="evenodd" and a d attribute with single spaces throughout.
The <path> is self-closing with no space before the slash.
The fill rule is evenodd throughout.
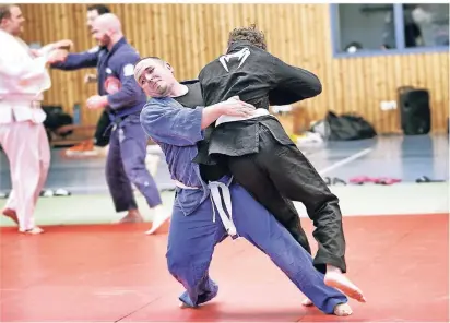
<path id="1" fill-rule="evenodd" d="M 92 35 L 99 46 L 110 49 L 123 37 L 120 20 L 114 13 L 97 16 L 92 23 Z"/>

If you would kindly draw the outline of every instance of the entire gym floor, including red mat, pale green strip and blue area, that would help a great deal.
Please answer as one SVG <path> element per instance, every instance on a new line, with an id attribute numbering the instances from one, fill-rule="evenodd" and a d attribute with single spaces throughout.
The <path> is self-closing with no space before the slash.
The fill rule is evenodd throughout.
<path id="1" fill-rule="evenodd" d="M 353 316 L 301 307 L 303 295 L 264 254 L 229 239 L 217 247 L 210 271 L 220 284 L 217 298 L 198 310 L 179 310 L 182 289 L 165 263 L 167 235 L 144 236 L 149 223 L 112 225 L 122 215 L 115 214 L 107 194 L 105 159 L 67 159 L 55 149 L 47 188 L 72 195 L 39 200 L 36 220 L 46 232 L 23 236 L 8 218 L 0 222 L 1 321 L 448 322 L 447 136 L 379 136 L 301 149 L 323 177 L 346 182 L 330 189 L 344 214 L 348 276 L 368 299 L 351 301 Z M 163 160 L 155 179 L 159 188 L 171 188 Z M 0 191 L 8 191 L 3 153 L 0 175 Z M 362 176 L 401 182 L 350 183 Z M 443 182 L 415 182 L 424 176 Z M 173 192 L 162 194 L 170 212 Z M 150 222 L 152 213 L 137 195 Z M 311 222 L 296 205 L 315 246 Z"/>

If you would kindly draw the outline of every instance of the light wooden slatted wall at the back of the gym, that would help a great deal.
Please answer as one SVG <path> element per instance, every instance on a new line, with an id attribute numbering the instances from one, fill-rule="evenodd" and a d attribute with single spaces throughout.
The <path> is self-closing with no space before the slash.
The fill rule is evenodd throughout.
<path id="1" fill-rule="evenodd" d="M 71 38 L 75 50 L 94 46 L 85 27 L 85 4 L 23 4 L 27 17 L 24 39 L 47 44 Z M 382 111 L 381 100 L 395 100 L 402 85 L 431 93 L 433 129 L 445 131 L 449 116 L 449 53 L 333 59 L 328 4 L 111 4 L 129 41 L 142 56 L 161 56 L 179 79 L 197 77 L 200 69 L 223 52 L 236 26 L 257 23 L 267 34 L 269 50 L 286 62 L 319 75 L 323 93 L 301 103 L 310 118 L 327 110 L 354 111 L 379 132 L 399 132 L 399 110 Z M 262 67 L 263 68 L 263 67 Z M 51 71 L 52 88 L 46 104 L 71 111 L 96 93 L 83 77 L 94 70 Z M 84 124 L 95 124 L 99 112 L 84 110 Z"/>

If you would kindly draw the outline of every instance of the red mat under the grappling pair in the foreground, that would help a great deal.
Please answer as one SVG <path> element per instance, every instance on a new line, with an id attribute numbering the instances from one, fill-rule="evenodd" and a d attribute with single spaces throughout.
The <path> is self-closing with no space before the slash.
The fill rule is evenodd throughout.
<path id="1" fill-rule="evenodd" d="M 308 232 L 310 222 L 303 219 Z M 304 296 L 244 240 L 220 244 L 216 299 L 178 309 L 181 286 L 166 270 L 166 236 L 149 225 L 47 227 L 42 236 L 1 229 L 0 318 L 17 321 L 449 321 L 449 216 L 346 217 L 350 277 L 368 302 L 335 318 Z M 311 238 L 311 242 L 313 242 Z M 313 243 L 312 243 L 313 244 Z"/>

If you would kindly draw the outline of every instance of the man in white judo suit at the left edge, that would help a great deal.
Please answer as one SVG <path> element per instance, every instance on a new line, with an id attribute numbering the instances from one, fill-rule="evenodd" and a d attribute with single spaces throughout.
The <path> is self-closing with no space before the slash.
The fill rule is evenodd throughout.
<path id="1" fill-rule="evenodd" d="M 34 208 L 47 179 L 50 149 L 40 108 L 50 88 L 47 64 L 63 59 L 69 43 L 61 40 L 34 56 L 19 38 L 25 19 L 15 4 L 0 4 L 0 145 L 10 162 L 12 192 L 2 213 L 19 231 L 40 234 Z"/>

